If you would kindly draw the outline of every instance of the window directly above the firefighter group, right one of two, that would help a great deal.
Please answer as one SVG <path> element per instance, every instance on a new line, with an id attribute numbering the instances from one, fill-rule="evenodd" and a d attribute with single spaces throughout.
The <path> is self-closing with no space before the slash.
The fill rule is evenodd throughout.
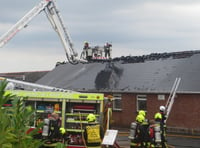
<path id="1" fill-rule="evenodd" d="M 146 95 L 138 95 L 137 96 L 137 111 L 139 110 L 147 110 L 147 96 Z"/>

